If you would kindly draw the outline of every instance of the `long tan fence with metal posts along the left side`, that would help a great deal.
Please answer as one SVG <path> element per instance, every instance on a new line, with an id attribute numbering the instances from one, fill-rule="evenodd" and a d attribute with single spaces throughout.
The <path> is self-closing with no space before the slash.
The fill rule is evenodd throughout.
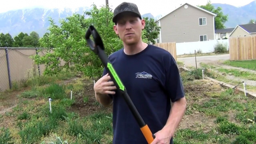
<path id="1" fill-rule="evenodd" d="M 52 52 L 52 51 L 50 51 Z M 44 65 L 35 65 L 30 56 L 44 55 L 46 49 L 37 52 L 37 48 L 0 48 L 0 92 L 13 87 L 15 82 L 41 75 Z M 63 62 L 61 64 L 64 64 Z"/>

